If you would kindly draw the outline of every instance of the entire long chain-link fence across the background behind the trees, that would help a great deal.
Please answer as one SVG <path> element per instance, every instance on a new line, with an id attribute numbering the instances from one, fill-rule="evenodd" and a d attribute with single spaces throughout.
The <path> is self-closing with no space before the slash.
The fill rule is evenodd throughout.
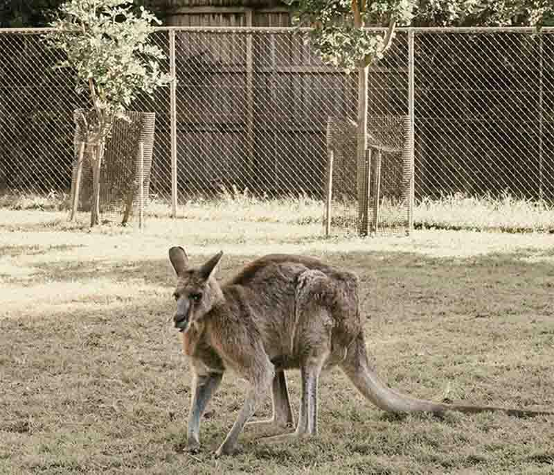
<path id="1" fill-rule="evenodd" d="M 0 194 L 71 185 L 73 110 L 87 103 L 42 33 L 0 30 Z M 154 41 L 177 83 L 132 107 L 156 112 L 151 197 L 172 212 L 222 190 L 323 200 L 328 124 L 356 119 L 356 74 L 292 28 L 158 28 Z M 553 29 L 401 28 L 370 67 L 368 114 L 370 134 L 407 118 L 415 136 L 411 153 L 379 160 L 384 221 L 406 206 L 417 221 L 418 203 L 444 196 L 554 204 Z M 355 163 L 334 161 L 337 224 L 359 218 Z"/>

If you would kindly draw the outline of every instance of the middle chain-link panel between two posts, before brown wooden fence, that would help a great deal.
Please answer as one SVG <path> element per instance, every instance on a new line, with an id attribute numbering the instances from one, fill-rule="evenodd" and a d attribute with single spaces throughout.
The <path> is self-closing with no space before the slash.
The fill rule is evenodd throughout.
<path id="1" fill-rule="evenodd" d="M 370 71 L 375 116 L 406 113 L 406 41 L 398 36 Z M 323 198 L 325 129 L 332 116 L 357 118 L 356 75 L 323 64 L 307 37 L 291 32 L 177 32 L 175 42 L 181 199 L 233 187 Z M 341 157 L 335 223 L 357 227 L 356 154 Z"/>

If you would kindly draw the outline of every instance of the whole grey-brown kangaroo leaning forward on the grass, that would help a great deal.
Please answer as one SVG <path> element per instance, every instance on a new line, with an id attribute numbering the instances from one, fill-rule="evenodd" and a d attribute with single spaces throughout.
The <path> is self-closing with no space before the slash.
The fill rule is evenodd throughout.
<path id="1" fill-rule="evenodd" d="M 269 254 L 252 261 L 223 285 L 215 270 L 223 252 L 189 268 L 181 247 L 169 258 L 177 273 L 173 318 L 193 373 L 186 450 L 199 450 L 200 418 L 226 370 L 249 382 L 246 401 L 216 456 L 232 454 L 245 424 L 294 426 L 285 370 L 301 371 L 296 431 L 265 438 L 280 442 L 317 433 L 317 388 L 321 370 L 340 365 L 350 381 L 384 411 L 505 411 L 553 414 L 492 406 L 415 399 L 388 388 L 370 368 L 359 313 L 357 276 L 311 257 Z M 273 416 L 249 422 L 271 386 Z"/>

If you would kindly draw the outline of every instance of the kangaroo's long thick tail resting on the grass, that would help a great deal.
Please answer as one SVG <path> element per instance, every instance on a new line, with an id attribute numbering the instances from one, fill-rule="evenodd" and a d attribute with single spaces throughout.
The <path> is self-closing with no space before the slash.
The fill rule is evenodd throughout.
<path id="1" fill-rule="evenodd" d="M 442 402 L 416 399 L 403 395 L 397 390 L 388 388 L 377 374 L 370 368 L 364 335 L 360 332 L 356 340 L 348 348 L 348 354 L 342 363 L 343 371 L 350 378 L 354 386 L 364 397 L 383 411 L 402 412 L 430 412 L 443 413 L 458 411 L 461 413 L 481 413 L 486 411 L 503 411 L 509 415 L 529 417 L 535 415 L 553 415 L 549 411 L 530 411 L 526 409 L 499 408 L 493 406 L 469 406 L 464 404 L 445 404 Z"/>

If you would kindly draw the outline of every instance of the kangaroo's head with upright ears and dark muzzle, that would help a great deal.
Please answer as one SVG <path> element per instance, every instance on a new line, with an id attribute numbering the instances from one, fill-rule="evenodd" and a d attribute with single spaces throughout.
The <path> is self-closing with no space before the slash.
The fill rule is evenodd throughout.
<path id="1" fill-rule="evenodd" d="M 188 257 L 183 248 L 175 246 L 169 250 L 169 259 L 177 273 L 177 288 L 173 293 L 177 311 L 173 321 L 179 331 L 187 331 L 222 298 L 220 285 L 214 276 L 222 255 L 223 251 L 218 252 L 203 266 L 191 269 L 188 268 Z"/>

